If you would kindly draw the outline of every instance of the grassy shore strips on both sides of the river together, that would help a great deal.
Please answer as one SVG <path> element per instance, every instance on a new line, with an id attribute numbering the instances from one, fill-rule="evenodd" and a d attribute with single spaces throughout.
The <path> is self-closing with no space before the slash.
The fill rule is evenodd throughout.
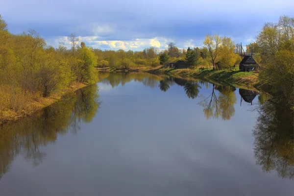
<path id="1" fill-rule="evenodd" d="M 174 77 L 181 77 L 187 79 L 201 79 L 204 81 L 218 83 L 222 85 L 231 85 L 237 88 L 246 88 L 250 90 L 259 90 L 263 92 L 269 92 L 267 85 L 262 85 L 258 81 L 258 73 L 246 73 L 238 71 L 227 71 L 227 70 L 204 70 L 196 71 L 191 69 L 170 69 L 170 68 L 130 68 L 130 69 L 116 69 L 116 68 L 96 68 L 99 72 L 115 72 L 115 73 L 134 73 L 143 72 L 151 73 L 156 75 L 169 75 Z M 4 111 L 0 117 L 0 126 L 5 123 L 11 123 L 18 121 L 19 119 L 25 118 L 34 114 L 35 112 L 52 105 L 58 101 L 65 100 L 63 97 L 67 94 L 73 93 L 78 89 L 84 88 L 90 84 L 74 82 L 68 88 L 61 90 L 60 92 L 53 93 L 48 98 L 32 98 L 26 104 L 28 109 L 21 112 L 14 112 L 11 110 Z"/>

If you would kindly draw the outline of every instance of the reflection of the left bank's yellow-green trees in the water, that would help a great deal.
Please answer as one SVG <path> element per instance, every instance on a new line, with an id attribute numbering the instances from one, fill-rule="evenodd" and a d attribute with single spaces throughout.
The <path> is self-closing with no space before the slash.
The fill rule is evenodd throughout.
<path id="1" fill-rule="evenodd" d="M 56 141 L 58 134 L 69 130 L 76 133 L 79 122 L 90 123 L 98 112 L 98 87 L 92 85 L 68 95 L 44 108 L 35 116 L 0 127 L 0 178 L 18 154 L 34 166 L 42 162 L 46 153 L 40 147 Z"/>

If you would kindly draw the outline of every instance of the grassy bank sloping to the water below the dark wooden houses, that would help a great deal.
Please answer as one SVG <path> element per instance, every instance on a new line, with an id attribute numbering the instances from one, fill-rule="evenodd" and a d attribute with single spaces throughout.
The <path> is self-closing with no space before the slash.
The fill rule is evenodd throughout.
<path id="1" fill-rule="evenodd" d="M 170 68 L 130 68 L 130 69 L 116 69 L 116 68 L 97 68 L 104 72 L 147 72 L 153 74 L 166 74 L 174 77 L 184 78 L 198 78 L 214 83 L 229 84 L 235 87 L 249 88 L 255 90 L 267 91 L 266 85 L 263 85 L 258 80 L 257 72 L 239 72 L 229 70 L 213 70 L 207 69 L 199 71 L 191 69 L 170 69 Z"/>

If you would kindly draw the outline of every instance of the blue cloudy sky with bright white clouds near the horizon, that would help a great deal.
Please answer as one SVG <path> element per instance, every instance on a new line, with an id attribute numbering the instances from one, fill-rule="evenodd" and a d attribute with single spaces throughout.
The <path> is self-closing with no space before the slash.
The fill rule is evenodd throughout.
<path id="1" fill-rule="evenodd" d="M 11 33 L 29 29 L 69 46 L 75 33 L 98 49 L 202 47 L 207 34 L 254 42 L 266 22 L 294 17 L 294 0 L 0 0 Z"/>

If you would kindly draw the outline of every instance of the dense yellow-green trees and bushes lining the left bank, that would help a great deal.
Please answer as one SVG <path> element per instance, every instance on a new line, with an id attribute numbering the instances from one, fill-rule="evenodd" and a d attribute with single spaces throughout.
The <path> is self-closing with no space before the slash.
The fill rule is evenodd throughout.
<path id="1" fill-rule="evenodd" d="M 93 49 L 70 36 L 72 49 L 61 43 L 48 47 L 34 30 L 13 35 L 0 16 L 0 120 L 7 111 L 26 109 L 27 102 L 69 87 L 73 82 L 96 81 Z"/>

